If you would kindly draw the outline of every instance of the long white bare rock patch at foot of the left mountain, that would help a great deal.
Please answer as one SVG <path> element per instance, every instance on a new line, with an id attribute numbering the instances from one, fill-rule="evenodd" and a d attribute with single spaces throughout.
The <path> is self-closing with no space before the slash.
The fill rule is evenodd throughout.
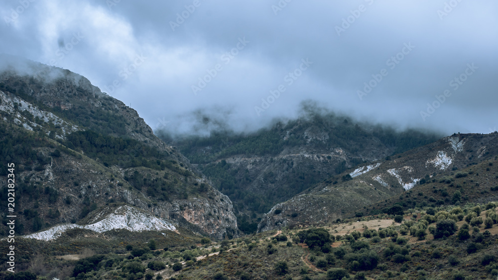
<path id="1" fill-rule="evenodd" d="M 116 209 L 115 213 L 108 214 L 103 220 L 90 225 L 80 226 L 76 224 L 63 224 L 54 226 L 46 231 L 25 235 L 23 237 L 50 241 L 57 239 L 66 230 L 73 228 L 89 229 L 99 233 L 113 229 L 126 229 L 129 231 L 176 231 L 175 226 L 168 220 L 159 219 L 151 214 L 140 212 L 130 206 L 120 206 Z"/>

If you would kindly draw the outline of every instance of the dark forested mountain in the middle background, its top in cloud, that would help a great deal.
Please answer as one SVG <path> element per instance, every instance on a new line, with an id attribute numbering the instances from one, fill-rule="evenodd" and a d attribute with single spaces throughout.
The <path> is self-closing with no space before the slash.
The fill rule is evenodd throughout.
<path id="1" fill-rule="evenodd" d="M 292 198 L 358 164 L 376 162 L 436 141 L 434 133 L 355 122 L 303 104 L 295 120 L 247 134 L 215 131 L 209 137 L 174 138 L 177 146 L 212 185 L 228 195 L 239 227 L 254 232 L 258 220 L 275 204 Z"/>

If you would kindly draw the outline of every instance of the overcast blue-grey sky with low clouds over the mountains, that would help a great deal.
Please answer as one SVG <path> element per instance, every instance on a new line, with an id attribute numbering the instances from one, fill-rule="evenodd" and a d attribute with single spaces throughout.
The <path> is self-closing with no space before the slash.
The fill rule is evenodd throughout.
<path id="1" fill-rule="evenodd" d="M 495 0 L 0 0 L 0 53 L 56 65 L 191 131 L 302 100 L 399 127 L 498 127 Z M 445 96 L 446 94 L 446 96 Z"/>

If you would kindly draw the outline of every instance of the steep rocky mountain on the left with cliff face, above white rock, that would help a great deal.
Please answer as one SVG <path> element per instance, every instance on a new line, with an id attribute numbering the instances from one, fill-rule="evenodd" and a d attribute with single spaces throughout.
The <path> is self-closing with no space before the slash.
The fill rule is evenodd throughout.
<path id="1" fill-rule="evenodd" d="M 16 234 L 86 226 L 85 218 L 104 209 L 134 209 L 193 236 L 238 236 L 230 199 L 135 110 L 68 70 L 15 57 L 2 61 L 0 175 L 15 175 Z M 0 193 L 7 207 L 5 183 Z M 7 222 L 2 214 L 0 237 L 8 235 Z"/>

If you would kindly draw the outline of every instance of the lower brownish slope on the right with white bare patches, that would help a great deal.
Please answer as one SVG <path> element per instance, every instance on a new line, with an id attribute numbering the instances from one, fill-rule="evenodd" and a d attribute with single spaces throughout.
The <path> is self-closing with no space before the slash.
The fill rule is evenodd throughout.
<path id="1" fill-rule="evenodd" d="M 482 192 L 479 198 L 475 193 L 488 191 L 490 187 L 498 185 L 494 175 L 497 155 L 498 133 L 496 132 L 487 135 L 454 134 L 384 160 L 360 165 L 333 176 L 285 202 L 278 203 L 263 216 L 258 224 L 258 231 L 280 229 L 285 226 L 294 227 L 299 224 L 324 224 L 344 218 L 350 213 L 361 217 L 367 214 L 367 207 L 374 203 L 382 204 L 385 208 L 383 211 L 388 212 L 387 208 L 393 204 L 401 204 L 403 210 L 403 208 L 435 204 L 448 205 L 456 201 L 470 202 L 465 199 L 465 195 L 473 195 L 472 202 L 484 203 L 496 200 L 498 199 L 496 195 L 490 197 L 487 192 Z M 481 163 L 489 165 L 487 170 L 482 173 L 473 172 L 472 169 L 476 167 L 472 166 Z M 460 173 L 459 170 L 463 171 Z M 420 195 L 412 194 L 436 181 L 448 182 L 451 184 L 450 188 L 455 188 L 457 185 L 465 186 L 464 183 L 458 184 L 453 181 L 462 181 L 458 178 L 474 173 L 480 175 L 480 178 L 486 176 L 486 181 L 481 182 L 481 185 L 476 183 L 477 186 L 474 187 L 472 186 L 476 179 L 467 182 L 467 187 L 471 189 L 460 191 L 461 197 L 457 200 L 452 200 L 449 196 L 454 195 L 454 191 L 448 193 L 448 190 L 444 191 L 441 187 L 437 189 L 446 193 L 446 196 L 442 197 L 443 200 L 428 198 L 434 196 L 429 191 L 425 191 L 425 194 L 420 192 Z M 464 181 L 469 181 L 466 179 Z M 448 187 L 444 187 L 446 188 Z M 403 198 L 405 194 L 407 198 Z M 398 203 L 399 200 L 396 198 L 398 196 L 403 200 L 402 203 Z M 385 201 L 379 202 L 383 200 Z M 370 213 L 380 212 L 380 207 L 376 207 L 376 211 Z"/>

